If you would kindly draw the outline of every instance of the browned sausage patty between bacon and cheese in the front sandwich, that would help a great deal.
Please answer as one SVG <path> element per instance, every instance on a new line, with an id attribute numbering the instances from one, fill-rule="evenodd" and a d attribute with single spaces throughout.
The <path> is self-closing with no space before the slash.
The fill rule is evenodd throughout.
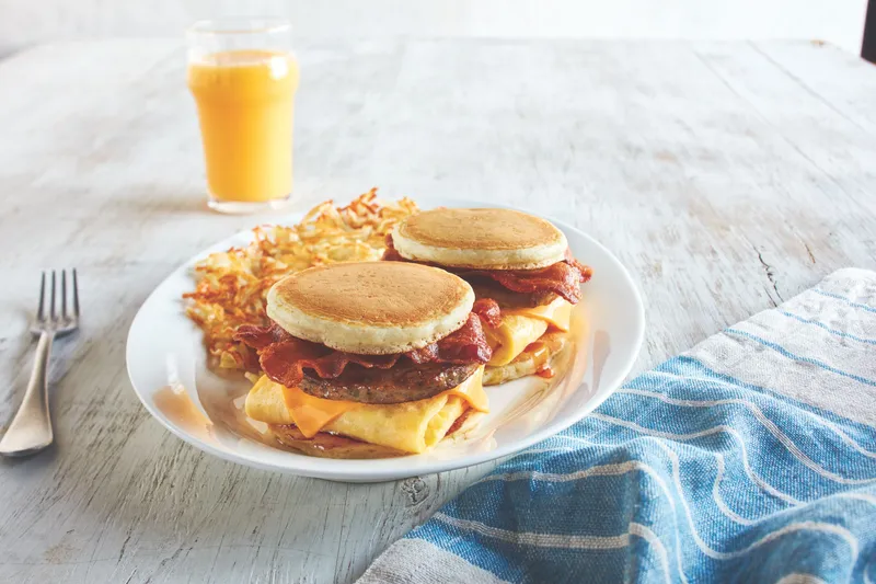
<path id="1" fill-rule="evenodd" d="M 304 370 L 301 390 L 326 400 L 347 400 L 360 403 L 404 403 L 437 396 L 453 389 L 474 374 L 479 363 L 452 365 L 408 360 L 390 369 L 368 369 L 350 364 L 334 379 L 323 379 Z"/>

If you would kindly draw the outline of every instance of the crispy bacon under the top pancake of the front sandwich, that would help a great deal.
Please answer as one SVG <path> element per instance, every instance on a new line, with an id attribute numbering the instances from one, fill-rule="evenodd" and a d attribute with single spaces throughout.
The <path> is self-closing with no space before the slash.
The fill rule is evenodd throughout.
<path id="1" fill-rule="evenodd" d="M 319 343 L 297 339 L 277 324 L 238 328 L 234 339 L 258 351 L 258 363 L 270 379 L 287 387 L 301 382 L 304 369 L 323 379 L 338 377 L 349 364 L 361 367 L 389 369 L 401 357 L 422 365 L 430 362 L 465 364 L 486 363 L 493 352 L 481 328 L 481 319 L 470 313 L 458 331 L 423 348 L 392 355 L 358 355 L 335 351 Z"/>

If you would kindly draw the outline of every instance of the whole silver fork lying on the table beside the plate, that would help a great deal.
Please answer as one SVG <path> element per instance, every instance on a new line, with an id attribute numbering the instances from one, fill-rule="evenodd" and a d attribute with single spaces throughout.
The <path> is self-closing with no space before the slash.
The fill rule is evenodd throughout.
<path id="1" fill-rule="evenodd" d="M 9 430 L 0 440 L 0 455 L 27 456 L 38 453 L 51 444 L 51 419 L 48 414 L 48 359 L 51 355 L 51 342 L 56 336 L 64 336 L 79 327 L 79 283 L 76 270 L 72 271 L 72 311 L 67 310 L 67 271 L 61 271 L 60 314 L 55 310 L 55 271 L 51 271 L 51 297 L 49 311 L 46 314 L 46 273 L 39 284 L 39 309 L 31 325 L 31 332 L 39 335 L 34 356 L 34 368 L 27 391 L 12 419 Z"/>

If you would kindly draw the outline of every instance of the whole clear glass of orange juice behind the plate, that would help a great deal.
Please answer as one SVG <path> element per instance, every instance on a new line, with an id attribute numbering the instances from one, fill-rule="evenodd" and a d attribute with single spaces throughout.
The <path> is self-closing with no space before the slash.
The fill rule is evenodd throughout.
<path id="1" fill-rule="evenodd" d="M 298 62 L 291 25 L 220 19 L 195 23 L 187 36 L 209 206 L 224 213 L 281 207 L 292 193 Z"/>

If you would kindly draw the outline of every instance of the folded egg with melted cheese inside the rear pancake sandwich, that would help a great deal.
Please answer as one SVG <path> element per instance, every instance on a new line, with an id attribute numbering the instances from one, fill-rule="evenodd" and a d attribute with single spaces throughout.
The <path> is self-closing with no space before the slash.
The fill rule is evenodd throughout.
<path id="1" fill-rule="evenodd" d="M 568 332 L 572 321 L 572 305 L 556 298 L 550 305 L 535 308 L 515 308 L 502 311 L 502 323 L 484 327 L 486 342 L 493 350 L 491 367 L 511 363 L 530 343 L 538 341 L 549 328 Z"/>

